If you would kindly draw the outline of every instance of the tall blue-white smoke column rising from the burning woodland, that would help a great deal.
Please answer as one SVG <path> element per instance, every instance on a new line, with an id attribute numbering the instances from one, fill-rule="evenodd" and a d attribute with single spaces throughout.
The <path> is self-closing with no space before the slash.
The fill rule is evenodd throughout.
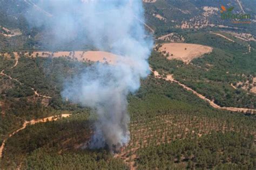
<path id="1" fill-rule="evenodd" d="M 115 65 L 95 63 L 62 91 L 63 98 L 97 112 L 90 147 L 107 144 L 118 150 L 130 139 L 127 94 L 138 90 L 140 78 L 150 72 L 152 41 L 145 39 L 142 1 L 52 0 L 38 1 L 38 6 L 51 13 L 45 22 L 56 40 L 69 41 L 79 34 L 97 49 L 118 54 Z"/>

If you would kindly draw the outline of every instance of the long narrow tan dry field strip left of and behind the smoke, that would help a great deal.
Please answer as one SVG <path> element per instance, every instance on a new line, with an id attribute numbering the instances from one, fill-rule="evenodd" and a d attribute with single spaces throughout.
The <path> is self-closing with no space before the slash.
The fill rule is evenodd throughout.
<path id="1" fill-rule="evenodd" d="M 14 52 L 15 58 L 18 58 L 18 53 Z M 35 58 L 36 56 L 42 57 L 66 57 L 72 60 L 78 61 L 93 61 L 93 62 L 107 62 L 114 64 L 117 61 L 118 55 L 103 52 L 103 51 L 60 51 L 60 52 L 49 52 L 49 51 L 38 51 L 31 53 L 24 53 L 24 55 Z M 10 57 L 10 54 L 4 53 L 4 56 Z"/>

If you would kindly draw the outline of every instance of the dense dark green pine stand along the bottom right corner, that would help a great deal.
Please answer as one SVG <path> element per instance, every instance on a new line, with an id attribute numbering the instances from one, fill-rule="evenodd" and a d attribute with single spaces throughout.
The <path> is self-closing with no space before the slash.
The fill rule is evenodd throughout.
<path id="1" fill-rule="evenodd" d="M 138 150 L 138 169 L 217 168 L 253 169 L 253 137 L 237 132 L 212 132 L 200 138 L 176 139 L 169 144 Z"/>

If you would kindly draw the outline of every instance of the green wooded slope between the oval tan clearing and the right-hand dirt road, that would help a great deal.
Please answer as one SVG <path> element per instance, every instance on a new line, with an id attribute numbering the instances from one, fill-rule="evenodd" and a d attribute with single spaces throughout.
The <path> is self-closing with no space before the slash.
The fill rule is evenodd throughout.
<path id="1" fill-rule="evenodd" d="M 186 42 L 213 47 L 213 52 L 185 64 L 167 60 L 163 54 L 152 52 L 150 63 L 161 74 L 173 74 L 186 86 L 206 96 L 221 107 L 255 108 L 256 96 L 231 84 L 252 81 L 256 76 L 256 51 L 248 44 L 231 43 L 209 33 L 191 33 Z M 254 44 L 251 44 L 255 47 Z"/>

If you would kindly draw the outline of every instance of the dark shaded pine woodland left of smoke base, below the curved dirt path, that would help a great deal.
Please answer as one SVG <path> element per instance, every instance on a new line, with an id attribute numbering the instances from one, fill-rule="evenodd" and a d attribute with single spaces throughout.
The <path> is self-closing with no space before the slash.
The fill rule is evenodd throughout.
<path id="1" fill-rule="evenodd" d="M 30 125 L 8 139 L 2 168 L 126 169 L 122 160 L 114 159 L 106 150 L 75 149 L 90 138 L 90 126 L 86 111 L 59 121 Z"/>

